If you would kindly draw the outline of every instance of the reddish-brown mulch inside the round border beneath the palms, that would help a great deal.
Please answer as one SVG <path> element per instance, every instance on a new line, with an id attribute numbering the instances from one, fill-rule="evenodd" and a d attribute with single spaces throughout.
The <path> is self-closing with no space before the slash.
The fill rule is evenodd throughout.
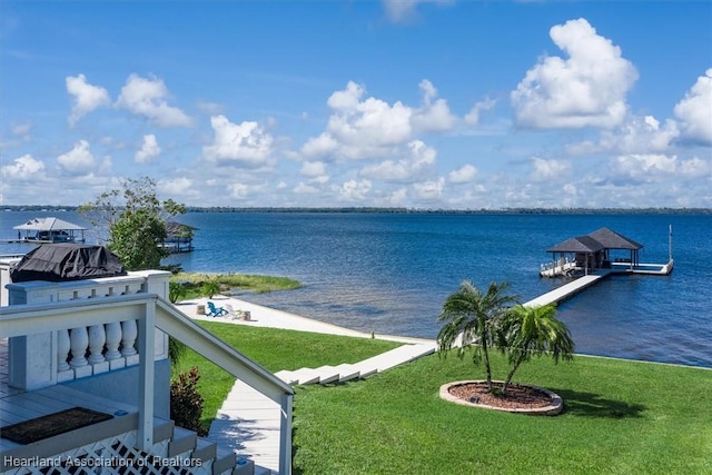
<path id="1" fill-rule="evenodd" d="M 493 383 L 502 387 L 502 383 Z M 465 383 L 449 388 L 449 394 L 469 403 L 483 404 L 503 409 L 532 409 L 552 404 L 552 396 L 530 386 L 511 384 L 505 396 L 487 392 L 487 383 Z"/>

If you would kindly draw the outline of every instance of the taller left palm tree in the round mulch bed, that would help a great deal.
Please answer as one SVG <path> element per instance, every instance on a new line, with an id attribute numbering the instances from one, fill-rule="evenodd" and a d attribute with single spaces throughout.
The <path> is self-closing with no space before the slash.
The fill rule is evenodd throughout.
<path id="1" fill-rule="evenodd" d="M 438 352 L 446 355 L 453 346 L 458 345 L 457 356 L 463 358 L 465 350 L 474 346 L 473 363 L 478 366 L 484 360 L 487 377 L 487 390 L 492 392 L 492 368 L 490 366 L 488 347 L 495 343 L 496 320 L 506 313 L 507 305 L 515 297 L 505 294 L 507 283 L 491 283 L 483 294 L 468 280 L 464 280 L 457 290 L 443 304 L 437 317 L 445 321 L 437 335 Z"/>

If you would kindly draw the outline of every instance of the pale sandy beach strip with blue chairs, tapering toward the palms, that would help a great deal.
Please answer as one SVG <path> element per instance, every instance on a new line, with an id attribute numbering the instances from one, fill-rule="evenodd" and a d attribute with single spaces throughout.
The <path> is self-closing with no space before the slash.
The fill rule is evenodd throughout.
<path id="1" fill-rule="evenodd" d="M 219 316 L 208 317 L 206 313 L 208 309 L 208 301 L 212 301 L 216 307 L 233 308 L 234 313 Z M 221 321 L 235 325 L 245 325 L 253 327 L 266 327 L 266 328 L 281 328 L 297 331 L 310 331 L 322 333 L 328 335 L 343 335 L 357 338 L 376 338 L 390 342 L 402 343 L 433 343 L 433 340 L 424 338 L 412 338 L 405 336 L 395 335 L 378 335 L 353 330 L 344 328 L 337 325 L 333 325 L 326 321 L 319 321 L 312 318 L 303 317 L 299 315 L 289 314 L 287 311 L 277 310 L 275 308 L 265 307 L 263 305 L 251 304 L 249 301 L 238 299 L 235 297 L 228 297 L 222 295 L 216 295 L 212 298 L 201 297 L 192 298 L 189 300 L 182 300 L 175 304 L 176 307 L 196 320 L 208 321 Z M 205 313 L 200 313 L 199 308 L 205 309 Z M 240 313 L 249 311 L 250 319 L 246 320 L 240 318 Z"/>

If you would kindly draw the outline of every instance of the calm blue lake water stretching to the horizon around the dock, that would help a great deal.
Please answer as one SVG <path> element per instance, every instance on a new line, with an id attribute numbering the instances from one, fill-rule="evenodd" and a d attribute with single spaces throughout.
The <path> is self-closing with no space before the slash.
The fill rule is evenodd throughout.
<path id="1" fill-rule="evenodd" d="M 0 238 L 33 216 L 47 214 L 0 214 Z M 606 226 L 645 245 L 642 263 L 665 263 L 673 225 L 671 276 L 613 277 L 562 304 L 558 317 L 577 353 L 712 367 L 712 216 L 198 212 L 180 221 L 199 228 L 196 251 L 166 264 L 293 277 L 305 287 L 241 297 L 364 331 L 431 338 L 463 279 L 507 280 L 526 301 L 564 283 L 538 277 L 550 246 Z"/>

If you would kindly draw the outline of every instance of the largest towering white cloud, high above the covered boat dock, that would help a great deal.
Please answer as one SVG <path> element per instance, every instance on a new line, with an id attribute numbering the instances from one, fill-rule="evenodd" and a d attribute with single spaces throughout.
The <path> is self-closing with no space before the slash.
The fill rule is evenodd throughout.
<path id="1" fill-rule="evenodd" d="M 633 65 L 585 19 L 550 31 L 568 55 L 544 57 L 526 72 L 512 103 L 520 126 L 532 128 L 612 128 L 625 118 L 625 96 L 637 79 Z"/>

